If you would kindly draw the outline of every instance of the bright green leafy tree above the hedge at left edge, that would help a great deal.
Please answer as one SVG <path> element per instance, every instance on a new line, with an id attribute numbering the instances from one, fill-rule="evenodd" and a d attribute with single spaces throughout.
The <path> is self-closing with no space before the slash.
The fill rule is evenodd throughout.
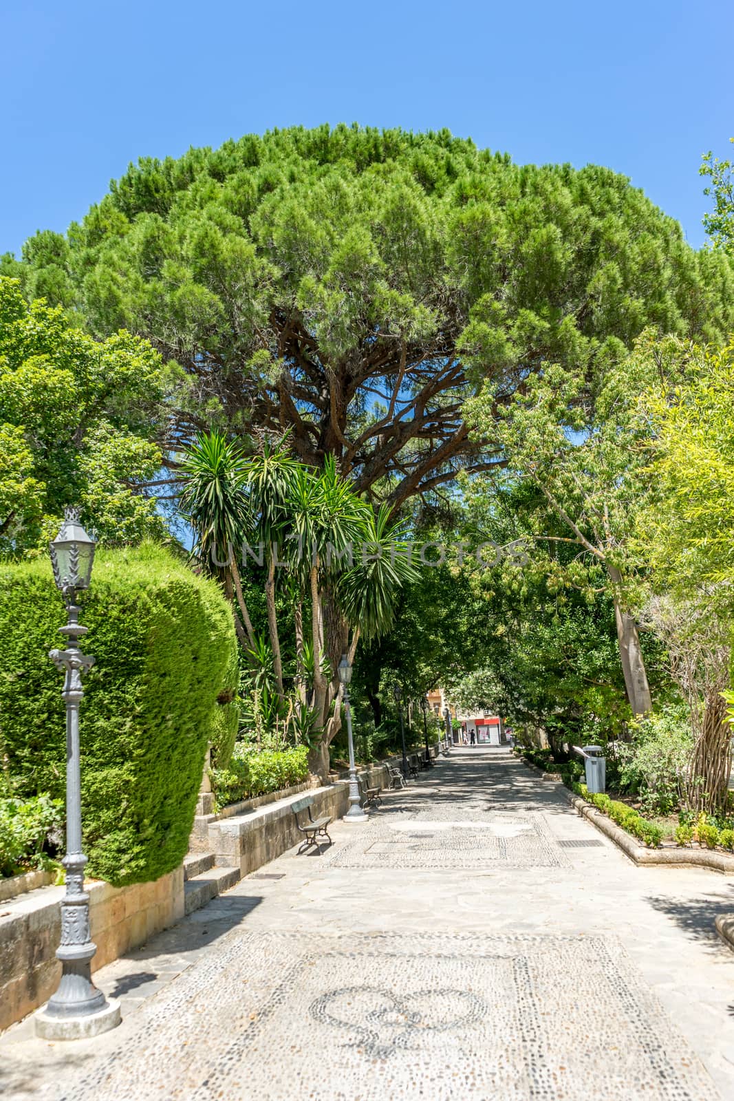
<path id="1" fill-rule="evenodd" d="M 35 546 L 69 504 L 108 544 L 165 534 L 136 487 L 162 462 L 150 439 L 169 373 L 139 337 L 94 340 L 0 277 L 1 550 Z"/>

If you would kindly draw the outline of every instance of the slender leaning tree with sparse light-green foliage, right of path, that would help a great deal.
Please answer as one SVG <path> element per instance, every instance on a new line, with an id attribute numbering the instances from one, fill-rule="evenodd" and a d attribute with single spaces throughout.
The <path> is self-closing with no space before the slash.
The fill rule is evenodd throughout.
<path id="1" fill-rule="evenodd" d="M 625 688 L 634 715 L 651 710 L 636 604 L 645 565 L 634 545 L 639 513 L 654 493 L 648 466 L 654 444 L 643 399 L 661 379 L 675 384 L 681 366 L 671 348 L 647 330 L 621 362 L 585 378 L 549 364 L 497 410 L 490 395 L 471 403 L 478 432 L 486 423 L 503 447 L 507 469 L 537 490 L 527 546 L 544 556 L 551 543 L 576 545 L 579 559 L 602 567 L 614 609 Z M 490 491 L 491 492 L 491 491 Z M 561 531 L 549 530 L 549 519 Z"/>

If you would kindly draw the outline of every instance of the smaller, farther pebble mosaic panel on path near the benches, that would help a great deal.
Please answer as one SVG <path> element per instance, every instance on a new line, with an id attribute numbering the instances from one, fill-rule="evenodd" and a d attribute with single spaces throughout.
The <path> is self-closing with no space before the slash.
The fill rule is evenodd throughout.
<path id="1" fill-rule="evenodd" d="M 415 813 L 379 810 L 353 831 L 346 844 L 322 850 L 325 865 L 482 871 L 568 863 L 539 815 L 482 815 L 459 803 Z"/>

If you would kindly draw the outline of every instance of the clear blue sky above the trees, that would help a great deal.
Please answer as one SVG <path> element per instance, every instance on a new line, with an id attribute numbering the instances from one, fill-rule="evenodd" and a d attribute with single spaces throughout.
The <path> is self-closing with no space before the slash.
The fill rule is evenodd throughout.
<path id="1" fill-rule="evenodd" d="M 0 0 L 0 252 L 65 230 L 139 156 L 293 123 L 448 127 L 607 164 L 694 246 L 734 135 L 734 8 L 698 0 Z"/>

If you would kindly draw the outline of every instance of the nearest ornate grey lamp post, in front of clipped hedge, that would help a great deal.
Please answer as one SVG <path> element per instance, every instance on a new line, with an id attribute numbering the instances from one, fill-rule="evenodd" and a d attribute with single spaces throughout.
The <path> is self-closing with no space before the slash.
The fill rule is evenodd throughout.
<path id="1" fill-rule="evenodd" d="M 67 623 L 59 628 L 66 650 L 52 650 L 50 657 L 63 669 L 66 704 L 66 894 L 62 898 L 62 938 L 56 958 L 62 964 L 58 990 L 35 1015 L 36 1034 L 44 1039 L 81 1039 L 97 1036 L 120 1024 L 120 1006 L 108 1001 L 91 981 L 91 959 L 97 951 L 89 931 L 89 895 L 84 890 L 87 858 L 81 852 L 81 792 L 79 773 L 79 702 L 81 674 L 94 657 L 85 656 L 77 643 L 87 628 L 79 623 L 76 593 L 88 589 L 95 557 L 95 541 L 79 523 L 79 510 L 66 509 L 64 523 L 51 544 L 54 580 L 66 604 Z"/>

